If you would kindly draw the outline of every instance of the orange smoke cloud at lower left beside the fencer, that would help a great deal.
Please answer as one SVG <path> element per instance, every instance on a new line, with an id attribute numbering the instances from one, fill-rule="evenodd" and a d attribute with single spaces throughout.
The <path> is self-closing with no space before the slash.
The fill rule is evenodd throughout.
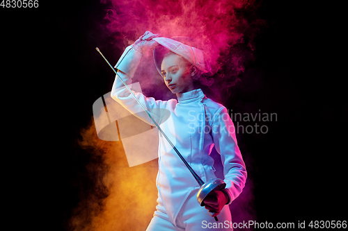
<path id="1" fill-rule="evenodd" d="M 93 117 L 80 133 L 79 145 L 91 154 L 86 171 L 94 185 L 81 192 L 70 230 L 145 230 L 157 205 L 157 160 L 129 168 L 122 142 L 99 139 Z"/>

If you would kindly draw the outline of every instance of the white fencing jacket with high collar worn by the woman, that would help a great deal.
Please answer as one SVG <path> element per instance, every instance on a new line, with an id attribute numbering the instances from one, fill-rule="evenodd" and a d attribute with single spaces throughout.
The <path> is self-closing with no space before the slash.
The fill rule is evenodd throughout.
<path id="1" fill-rule="evenodd" d="M 118 71 L 127 85 L 132 83 L 141 57 L 141 53 L 128 46 L 118 60 L 115 67 L 125 73 Z M 204 182 L 216 178 L 214 160 L 209 156 L 215 146 L 221 155 L 224 181 L 230 197 L 228 204 L 232 203 L 244 188 L 246 168 L 237 146 L 235 126 L 226 108 L 205 97 L 201 89 L 177 94 L 177 100 L 168 101 L 155 100 L 139 92 L 134 94 Z M 117 77 L 111 97 L 133 114 L 143 111 Z M 154 126 L 146 114 L 140 118 Z M 199 188 L 187 166 L 159 132 L 157 189 L 172 221 L 175 221 L 191 191 Z M 197 206 L 200 205 L 197 203 Z"/>

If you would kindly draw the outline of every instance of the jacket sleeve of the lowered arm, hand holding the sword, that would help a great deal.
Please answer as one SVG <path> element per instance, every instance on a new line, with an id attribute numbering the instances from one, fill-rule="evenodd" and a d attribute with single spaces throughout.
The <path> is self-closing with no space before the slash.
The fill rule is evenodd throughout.
<path id="1" fill-rule="evenodd" d="M 214 114 L 212 137 L 216 151 L 221 155 L 226 193 L 230 197 L 228 205 L 242 193 L 246 182 L 246 167 L 237 145 L 235 126 L 225 107 Z"/>

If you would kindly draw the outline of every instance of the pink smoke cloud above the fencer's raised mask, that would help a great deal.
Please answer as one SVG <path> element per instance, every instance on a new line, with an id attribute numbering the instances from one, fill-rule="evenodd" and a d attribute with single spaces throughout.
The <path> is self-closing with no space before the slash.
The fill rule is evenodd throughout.
<path id="1" fill-rule="evenodd" d="M 253 39 L 262 20 L 255 0 L 102 0 L 105 25 L 120 50 L 145 31 L 161 37 L 193 37 L 211 60 L 213 71 L 237 76 L 253 60 Z M 225 80 L 229 81 L 229 80 Z"/>

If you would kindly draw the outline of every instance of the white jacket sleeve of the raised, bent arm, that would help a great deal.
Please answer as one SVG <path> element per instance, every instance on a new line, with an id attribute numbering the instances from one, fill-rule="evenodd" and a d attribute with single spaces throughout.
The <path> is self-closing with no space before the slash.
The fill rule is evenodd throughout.
<path id="1" fill-rule="evenodd" d="M 142 56 L 143 55 L 139 51 L 134 50 L 132 46 L 127 46 L 125 51 L 122 53 L 120 60 L 118 60 L 117 64 L 115 65 L 115 68 L 118 69 L 118 76 L 122 78 L 127 86 L 132 84 L 132 77 L 134 76 L 136 68 L 141 62 Z M 130 94 L 129 90 L 125 87 L 125 85 L 123 85 L 118 76 L 116 76 L 115 81 L 113 82 L 111 98 L 120 103 L 120 105 L 122 105 L 136 117 L 139 117 L 139 119 L 149 123 L 152 126 L 155 126 L 150 117 L 148 117 L 148 114 L 145 114 L 141 105 L 139 105 L 139 103 L 134 99 L 134 96 Z M 164 105 L 161 104 L 165 103 L 165 101 L 156 101 L 154 98 L 146 97 L 140 92 L 132 92 L 144 106 L 144 108 L 150 112 L 152 118 L 158 123 L 161 118 L 161 114 L 163 114 L 161 107 Z"/>

